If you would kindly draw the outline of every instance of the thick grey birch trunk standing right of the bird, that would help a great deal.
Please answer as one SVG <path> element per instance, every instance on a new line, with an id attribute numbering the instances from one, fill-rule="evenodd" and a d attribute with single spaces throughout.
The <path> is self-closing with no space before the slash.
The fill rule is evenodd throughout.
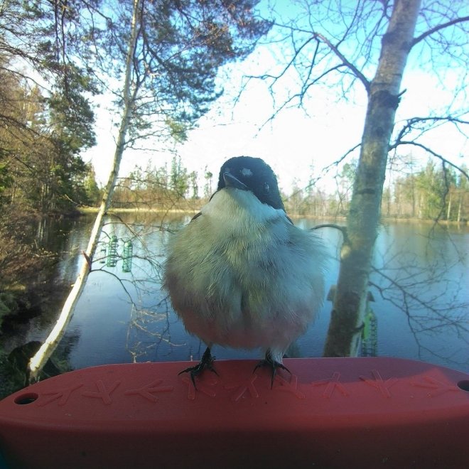
<path id="1" fill-rule="evenodd" d="M 420 5 L 421 0 L 394 2 L 377 72 L 367 90 L 365 129 L 324 349 L 327 357 L 355 356 L 359 350 L 387 153 Z"/>

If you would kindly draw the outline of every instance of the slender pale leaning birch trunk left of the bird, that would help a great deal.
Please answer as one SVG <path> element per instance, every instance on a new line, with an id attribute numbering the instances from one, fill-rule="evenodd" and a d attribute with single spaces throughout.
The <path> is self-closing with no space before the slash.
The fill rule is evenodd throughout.
<path id="1" fill-rule="evenodd" d="M 88 241 L 87 249 L 84 252 L 84 259 L 80 272 L 75 280 L 75 284 L 72 287 L 65 303 L 63 305 L 60 316 L 55 323 L 53 330 L 50 331 L 48 338 L 39 350 L 36 352 L 36 355 L 31 357 L 28 365 L 28 380 L 29 382 L 36 381 L 38 379 L 38 374 L 41 372 L 45 362 L 50 358 L 57 347 L 60 339 L 63 337 L 65 330 L 70 323 L 72 318 L 72 313 L 75 308 L 75 304 L 80 298 L 83 287 L 85 286 L 88 275 L 90 274 L 92 268 L 92 259 L 95 255 L 97 244 L 99 242 L 99 235 L 101 234 L 102 226 L 104 224 L 104 215 L 106 215 L 109 205 L 112 201 L 112 193 L 114 192 L 114 187 L 116 185 L 117 176 L 119 175 L 119 167 L 122 161 L 122 155 L 124 153 L 126 145 L 126 136 L 129 131 L 129 125 L 132 117 L 132 108 L 136 96 L 136 90 L 133 89 L 132 85 L 132 63 L 134 58 L 134 53 L 136 49 L 136 39 L 138 36 L 138 26 L 139 26 L 139 11 L 140 11 L 140 1 L 134 0 L 132 19 L 131 19 L 131 31 L 129 35 L 129 45 L 126 55 L 126 74 L 124 80 L 124 111 L 122 114 L 122 122 L 119 129 L 119 136 L 117 138 L 116 151 L 114 153 L 114 161 L 112 164 L 112 170 L 109 173 L 109 178 L 107 185 L 104 188 L 104 194 L 102 197 L 101 205 L 97 212 L 95 219 L 95 224 L 93 225 L 92 232 L 90 234 L 90 240 Z"/>

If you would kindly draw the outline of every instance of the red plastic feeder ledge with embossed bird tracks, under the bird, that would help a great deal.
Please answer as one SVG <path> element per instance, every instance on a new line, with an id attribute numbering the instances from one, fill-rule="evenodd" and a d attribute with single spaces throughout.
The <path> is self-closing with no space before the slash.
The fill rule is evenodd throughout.
<path id="1" fill-rule="evenodd" d="M 469 467 L 469 375 L 394 358 L 106 365 L 0 401 L 11 468 Z"/>

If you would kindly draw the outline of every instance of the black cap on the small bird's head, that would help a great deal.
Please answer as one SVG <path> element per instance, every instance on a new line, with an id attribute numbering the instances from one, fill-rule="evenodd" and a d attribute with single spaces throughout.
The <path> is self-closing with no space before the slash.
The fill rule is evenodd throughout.
<path id="1" fill-rule="evenodd" d="M 217 190 L 227 187 L 250 190 L 262 203 L 285 210 L 274 171 L 261 158 L 236 156 L 225 161 Z"/>

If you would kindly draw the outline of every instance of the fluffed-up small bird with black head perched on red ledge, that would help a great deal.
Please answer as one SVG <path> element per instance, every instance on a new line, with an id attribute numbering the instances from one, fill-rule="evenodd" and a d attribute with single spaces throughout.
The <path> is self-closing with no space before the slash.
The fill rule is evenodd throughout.
<path id="1" fill-rule="evenodd" d="M 282 358 L 324 298 L 325 249 L 286 215 L 274 171 L 238 156 L 220 169 L 210 201 L 168 242 L 163 289 L 186 330 L 207 349 L 189 372 L 215 372 L 212 345 L 262 348 L 259 366 Z M 256 367 L 256 369 L 257 369 Z"/>

